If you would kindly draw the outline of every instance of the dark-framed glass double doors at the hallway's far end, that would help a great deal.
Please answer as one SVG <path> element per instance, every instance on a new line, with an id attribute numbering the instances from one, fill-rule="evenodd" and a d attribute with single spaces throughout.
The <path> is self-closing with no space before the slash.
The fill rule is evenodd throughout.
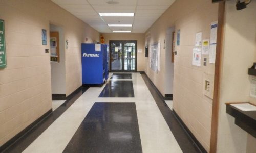
<path id="1" fill-rule="evenodd" d="M 110 71 L 137 71 L 137 41 L 110 41 Z"/>

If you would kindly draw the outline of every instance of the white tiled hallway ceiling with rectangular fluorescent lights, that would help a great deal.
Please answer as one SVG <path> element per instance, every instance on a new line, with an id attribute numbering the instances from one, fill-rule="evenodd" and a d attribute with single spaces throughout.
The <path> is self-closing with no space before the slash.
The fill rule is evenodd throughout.
<path id="1" fill-rule="evenodd" d="M 131 30 L 144 33 L 175 0 L 52 0 L 100 33 Z M 113 1 L 113 0 L 112 0 Z M 99 16 L 98 13 L 135 13 L 133 17 Z M 108 24 L 133 24 L 133 27 L 108 27 Z"/>

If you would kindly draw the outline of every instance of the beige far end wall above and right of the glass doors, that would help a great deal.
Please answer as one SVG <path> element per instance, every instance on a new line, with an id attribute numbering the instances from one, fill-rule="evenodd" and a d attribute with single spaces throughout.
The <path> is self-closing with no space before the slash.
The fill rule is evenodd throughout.
<path id="1" fill-rule="evenodd" d="M 102 33 L 105 43 L 110 40 L 137 40 L 137 71 L 144 71 L 145 65 L 145 35 L 143 33 Z M 141 53 L 138 50 L 142 49 Z"/>

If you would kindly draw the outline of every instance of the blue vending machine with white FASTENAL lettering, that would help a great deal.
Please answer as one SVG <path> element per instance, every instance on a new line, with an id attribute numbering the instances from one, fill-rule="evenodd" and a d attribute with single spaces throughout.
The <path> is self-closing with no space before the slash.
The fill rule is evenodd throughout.
<path id="1" fill-rule="evenodd" d="M 82 43 L 82 84 L 103 85 L 106 75 L 106 46 Z"/>

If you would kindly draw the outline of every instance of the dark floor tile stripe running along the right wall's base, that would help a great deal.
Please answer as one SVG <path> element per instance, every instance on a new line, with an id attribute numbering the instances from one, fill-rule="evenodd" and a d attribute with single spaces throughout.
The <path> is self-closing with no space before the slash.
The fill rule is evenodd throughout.
<path id="1" fill-rule="evenodd" d="M 165 103 L 163 96 L 151 82 L 150 78 L 147 77 L 145 73 L 141 73 L 144 82 L 146 83 L 148 89 L 150 90 L 152 96 L 154 97 L 156 104 L 161 111 L 166 123 L 169 126 L 170 131 L 172 131 L 175 139 L 177 140 L 182 152 L 197 153 L 206 152 L 204 148 L 201 147 L 194 141 L 189 134 L 185 131 L 182 124 L 176 119 L 173 111 L 170 110 L 168 105 Z M 202 146 L 202 145 L 201 145 Z"/>

